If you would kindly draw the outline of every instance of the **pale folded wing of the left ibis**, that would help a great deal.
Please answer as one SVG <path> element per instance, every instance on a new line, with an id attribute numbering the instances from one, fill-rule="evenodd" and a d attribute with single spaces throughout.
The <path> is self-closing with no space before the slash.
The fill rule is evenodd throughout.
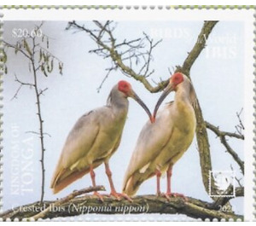
<path id="1" fill-rule="evenodd" d="M 101 127 L 98 120 L 98 114 L 100 112 L 101 109 L 97 108 L 84 114 L 74 125 L 73 130 L 70 131 L 55 169 L 51 188 L 55 187 L 61 176 L 67 174 L 66 170 L 70 170 L 73 165 L 76 165 L 79 159 L 83 158 L 90 151 L 94 142 L 96 142 L 96 137 Z"/>

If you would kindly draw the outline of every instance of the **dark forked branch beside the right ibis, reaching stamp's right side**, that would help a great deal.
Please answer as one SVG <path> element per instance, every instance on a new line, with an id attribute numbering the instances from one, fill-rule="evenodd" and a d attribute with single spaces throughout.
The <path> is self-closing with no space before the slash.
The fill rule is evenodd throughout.
<path id="1" fill-rule="evenodd" d="M 212 130 L 218 137 L 220 142 L 224 145 L 227 152 L 233 157 L 236 163 L 239 165 L 241 172 L 244 174 L 244 162 L 239 158 L 238 154 L 230 147 L 230 144 L 227 142 L 225 136 L 236 137 L 237 139 L 244 140 L 244 136 L 238 135 L 236 133 L 224 132 L 219 130 L 217 126 L 212 125 L 206 121 L 207 129 Z"/>

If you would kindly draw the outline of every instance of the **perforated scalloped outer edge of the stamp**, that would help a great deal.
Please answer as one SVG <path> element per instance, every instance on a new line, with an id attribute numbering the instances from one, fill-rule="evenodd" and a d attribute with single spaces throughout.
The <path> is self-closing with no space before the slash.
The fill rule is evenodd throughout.
<path id="1" fill-rule="evenodd" d="M 249 10 L 249 9 L 256 9 L 256 5 L 218 5 L 218 6 L 213 6 L 213 5 L 170 5 L 170 6 L 119 6 L 119 5 L 60 5 L 60 6 L 55 6 L 55 5 L 3 5 L 0 6 L 0 10 L 1 9 L 9 9 L 9 10 L 18 10 L 18 9 L 149 9 L 149 10 L 154 10 L 154 9 L 233 9 L 233 10 Z M 256 100 L 256 88 L 255 88 L 255 84 L 256 84 L 256 54 L 255 54 L 255 50 L 256 50 L 256 13 L 254 12 L 253 14 L 254 17 L 254 22 L 253 22 L 253 26 L 254 26 L 254 31 L 253 31 L 253 43 L 254 43 L 254 47 L 253 47 L 253 59 L 254 59 L 254 63 L 253 63 L 253 75 L 254 75 L 254 88 L 253 88 L 253 100 Z M 4 19 L 4 14 L 1 13 L 0 11 L 0 125 L 1 125 L 1 129 L 0 129 L 0 212 L 2 212 L 2 208 L 3 208 L 3 154 L 1 153 L 3 146 L 2 146 L 2 141 L 3 141 L 3 129 L 2 129 L 2 125 L 3 125 L 3 19 Z M 256 125 L 256 113 L 255 113 L 255 109 L 256 109 L 256 105 L 254 103 L 253 105 L 253 109 L 254 109 L 254 113 L 253 113 L 253 125 L 255 127 Z M 255 128 L 253 129 L 253 150 L 254 150 L 254 154 L 253 154 L 253 191 L 254 191 L 254 195 L 253 195 L 253 206 L 255 208 L 256 206 L 256 146 L 255 146 L 255 142 L 256 142 L 256 130 Z M 256 218 L 256 211 L 254 210 L 253 212 L 254 215 L 254 220 Z M 69 221 L 73 221 L 73 218 L 70 217 L 68 219 Z M 102 219 L 101 217 L 101 220 Z M 116 219 L 115 219 L 116 220 Z M 122 219 L 120 219 L 122 220 Z M 132 220 L 134 220 L 132 218 Z M 140 218 L 140 220 L 142 220 Z M 147 217 L 147 219 L 145 220 L 150 220 L 150 217 Z M 155 220 L 155 219 L 151 219 L 151 220 Z M 162 219 L 165 220 L 165 219 Z M 167 220 L 167 219 L 166 219 Z M 198 219 L 200 220 L 200 219 Z M 0 219 L 1 221 L 1 219 Z M 207 221 L 207 220 L 206 220 Z"/>

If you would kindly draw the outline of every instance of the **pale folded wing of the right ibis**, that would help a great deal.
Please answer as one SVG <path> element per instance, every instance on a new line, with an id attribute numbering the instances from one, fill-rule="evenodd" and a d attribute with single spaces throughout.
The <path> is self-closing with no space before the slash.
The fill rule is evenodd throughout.
<path id="1" fill-rule="evenodd" d="M 130 164 L 125 173 L 124 187 L 131 175 L 136 171 L 144 171 L 153 161 L 172 136 L 172 125 L 166 125 L 169 111 L 158 113 L 154 124 L 149 121 L 144 125 L 138 139 L 136 148 L 131 156 Z M 169 120 L 170 121 L 170 120 Z"/>

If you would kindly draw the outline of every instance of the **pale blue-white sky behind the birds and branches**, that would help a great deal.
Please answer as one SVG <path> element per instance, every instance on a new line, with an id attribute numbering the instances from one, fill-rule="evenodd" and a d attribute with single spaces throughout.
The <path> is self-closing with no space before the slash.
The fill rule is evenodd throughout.
<path id="1" fill-rule="evenodd" d="M 12 29 L 27 28 L 32 29 L 34 24 L 39 22 L 5 22 L 5 39 L 15 43 L 11 37 Z M 90 22 L 84 22 L 91 26 Z M 187 52 L 195 44 L 198 33 L 201 31 L 203 22 L 117 22 L 117 28 L 114 31 L 115 38 L 120 41 L 133 40 L 142 38 L 145 32 L 154 41 L 162 39 L 153 50 L 154 61 L 151 62 L 151 68 L 154 74 L 148 80 L 154 84 L 160 79 L 169 78 L 168 68 L 182 64 L 187 56 Z M 73 183 L 63 192 L 53 195 L 49 189 L 49 181 L 55 168 L 55 164 L 60 156 L 61 148 L 65 142 L 68 132 L 79 117 L 95 107 L 104 105 L 108 98 L 109 90 L 120 79 L 129 81 L 137 94 L 150 109 L 153 109 L 155 102 L 160 94 L 150 94 L 144 89 L 143 85 L 134 79 L 125 77 L 118 70 L 109 74 L 108 79 L 102 85 L 98 92 L 97 88 L 101 85 L 102 79 L 105 78 L 108 71 L 106 68 L 111 67 L 110 60 L 104 60 L 95 54 L 89 54 L 91 49 L 96 49 L 94 43 L 88 36 L 82 32 L 73 33 L 65 31 L 67 22 L 45 22 L 43 32 L 47 33 L 50 38 L 50 49 L 52 53 L 59 58 L 64 64 L 63 76 L 59 74 L 50 74 L 48 79 L 38 78 L 39 83 L 48 87 L 47 95 L 42 98 L 42 107 L 44 108 L 45 132 L 51 137 L 45 137 L 46 149 L 45 168 L 46 168 L 46 188 L 45 200 L 54 200 L 56 197 L 63 197 L 74 189 L 90 186 L 90 177 L 85 176 L 83 179 Z M 125 31 L 125 32 L 124 32 Z M 208 40 L 207 48 L 203 50 L 200 57 L 192 67 L 190 76 L 201 102 L 201 108 L 204 118 L 212 125 L 218 125 L 220 130 L 235 132 L 236 125 L 239 125 L 236 113 L 240 113 L 243 107 L 243 53 L 244 46 L 243 25 L 239 22 L 220 21 L 213 29 L 211 39 Z M 9 52 L 11 49 L 9 49 Z M 5 137 L 11 139 L 3 140 L 3 146 L 9 148 L 9 153 L 5 158 L 11 158 L 13 142 L 18 142 L 21 149 L 33 150 L 31 159 L 23 159 L 23 163 L 32 160 L 32 183 L 23 184 L 20 188 L 20 195 L 27 196 L 24 202 L 17 200 L 17 194 L 4 196 L 4 210 L 14 206 L 20 206 L 37 200 L 40 189 L 39 175 L 39 155 L 38 139 L 26 131 L 37 128 L 36 114 L 34 109 L 34 96 L 32 90 L 20 90 L 18 99 L 11 100 L 15 95 L 15 90 L 19 84 L 15 84 L 15 74 L 23 81 L 30 82 L 27 76 L 27 61 L 21 60 L 19 55 L 9 53 L 9 73 L 5 76 L 4 84 L 4 117 L 5 117 Z M 236 67 L 234 67 L 236 65 Z M 11 66 L 11 67 L 10 67 Z M 152 78 L 152 80 L 151 80 Z M 173 95 L 168 97 L 172 100 Z M 119 150 L 110 160 L 110 166 L 113 171 L 113 181 L 116 188 L 120 191 L 122 178 L 126 166 L 129 163 L 132 150 L 136 144 L 137 136 L 142 129 L 147 115 L 137 104 L 130 100 L 130 109 L 126 121 L 125 130 Z M 242 113 L 241 113 L 242 120 Z M 136 125 L 136 126 L 135 126 Z M 19 136 L 14 136 L 14 131 L 18 131 Z M 211 144 L 212 168 L 214 170 L 236 171 L 237 179 L 240 180 L 242 175 L 240 168 L 233 161 L 230 154 L 225 152 L 225 148 L 220 144 L 219 139 L 211 131 L 208 131 Z M 243 146 L 241 141 L 229 138 L 229 143 L 236 153 L 243 159 Z M 22 158 L 22 156 L 20 157 Z M 22 164 L 22 161 L 21 163 Z M 15 165 L 11 163 L 8 167 Z M 7 167 L 7 165 L 4 165 Z M 20 165 L 20 169 L 22 169 Z M 7 168 L 5 179 L 12 178 L 12 171 Z M 24 171 L 20 170 L 20 176 Z M 21 177 L 22 178 L 22 177 Z M 107 190 L 108 179 L 105 175 L 104 168 L 100 166 L 96 169 L 96 182 L 104 185 Z M 240 181 L 242 183 L 242 179 Z M 9 183 L 15 186 L 14 183 Z M 166 180 L 162 180 L 161 186 L 166 188 Z M 205 192 L 201 182 L 201 171 L 199 156 L 196 151 L 196 142 L 194 141 L 183 158 L 180 159 L 173 168 L 172 188 L 175 192 L 183 193 L 201 200 L 211 200 Z M 7 190 L 12 188 L 5 188 Z M 155 178 L 143 183 L 138 194 L 154 194 Z M 231 200 L 235 206 L 235 211 L 242 214 L 242 198 Z"/>

